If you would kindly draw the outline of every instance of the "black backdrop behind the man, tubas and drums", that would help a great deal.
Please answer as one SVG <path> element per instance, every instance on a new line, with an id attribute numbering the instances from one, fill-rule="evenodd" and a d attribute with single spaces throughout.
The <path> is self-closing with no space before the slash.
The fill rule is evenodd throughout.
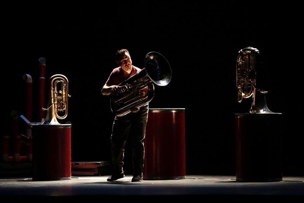
<path id="1" fill-rule="evenodd" d="M 235 174 L 234 114 L 251 106 L 251 98 L 237 102 L 235 63 L 238 51 L 251 46 L 263 56 L 268 107 L 283 115 L 283 174 L 303 175 L 298 8 L 213 1 L 3 5 L 2 135 L 11 134 L 12 110 L 25 114 L 25 73 L 33 77 L 38 122 L 38 59 L 45 57 L 46 98 L 52 75 L 69 80 L 69 113 L 59 122 L 72 122 L 72 161 L 111 160 L 114 115 L 109 96 L 100 91 L 117 67 L 114 54 L 126 48 L 133 65 L 143 68 L 145 55 L 157 51 L 169 61 L 172 80 L 156 86 L 149 107 L 185 108 L 187 174 Z M 130 147 L 127 173 L 132 173 Z"/>

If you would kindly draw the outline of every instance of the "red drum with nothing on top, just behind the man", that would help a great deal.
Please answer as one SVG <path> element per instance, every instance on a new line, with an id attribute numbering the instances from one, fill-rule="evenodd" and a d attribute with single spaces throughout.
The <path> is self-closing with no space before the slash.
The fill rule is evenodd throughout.
<path id="1" fill-rule="evenodd" d="M 143 179 L 184 179 L 185 109 L 149 109 Z"/>

